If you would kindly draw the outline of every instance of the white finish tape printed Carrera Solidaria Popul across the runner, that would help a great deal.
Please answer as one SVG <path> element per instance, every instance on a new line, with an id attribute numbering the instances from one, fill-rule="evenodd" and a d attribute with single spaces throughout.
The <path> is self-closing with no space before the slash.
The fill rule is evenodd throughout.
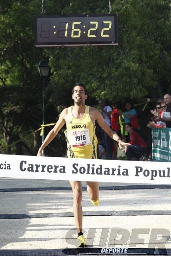
<path id="1" fill-rule="evenodd" d="M 171 184 L 170 162 L 0 155 L 0 177 Z"/>

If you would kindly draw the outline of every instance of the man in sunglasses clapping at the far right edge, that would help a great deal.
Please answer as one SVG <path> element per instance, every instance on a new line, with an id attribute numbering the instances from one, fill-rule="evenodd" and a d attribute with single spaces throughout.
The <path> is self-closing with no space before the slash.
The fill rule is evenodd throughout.
<path id="1" fill-rule="evenodd" d="M 166 123 L 166 128 L 171 128 L 171 94 L 164 95 L 164 103 L 167 105 L 167 108 L 163 108 L 165 112 L 168 113 L 168 117 L 157 117 L 156 121 L 163 121 Z M 170 114 L 169 114 L 170 113 Z"/>

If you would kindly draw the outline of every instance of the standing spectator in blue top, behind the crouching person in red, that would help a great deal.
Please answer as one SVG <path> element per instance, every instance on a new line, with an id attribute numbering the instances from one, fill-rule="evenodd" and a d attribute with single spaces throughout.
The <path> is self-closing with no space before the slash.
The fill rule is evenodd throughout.
<path id="1" fill-rule="evenodd" d="M 119 111 L 119 115 L 123 115 L 125 123 L 130 122 L 132 124 L 132 129 L 139 131 L 140 127 L 138 124 L 138 118 L 137 118 L 137 113 L 136 110 L 134 109 L 134 106 L 130 100 L 127 100 L 125 102 L 125 108 L 126 112 L 124 113 L 123 111 Z"/>

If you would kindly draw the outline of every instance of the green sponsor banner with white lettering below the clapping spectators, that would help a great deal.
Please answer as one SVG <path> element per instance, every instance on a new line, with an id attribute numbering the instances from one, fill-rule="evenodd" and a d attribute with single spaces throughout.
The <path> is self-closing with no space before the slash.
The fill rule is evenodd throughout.
<path id="1" fill-rule="evenodd" d="M 152 159 L 171 162 L 171 128 L 152 128 Z"/>

